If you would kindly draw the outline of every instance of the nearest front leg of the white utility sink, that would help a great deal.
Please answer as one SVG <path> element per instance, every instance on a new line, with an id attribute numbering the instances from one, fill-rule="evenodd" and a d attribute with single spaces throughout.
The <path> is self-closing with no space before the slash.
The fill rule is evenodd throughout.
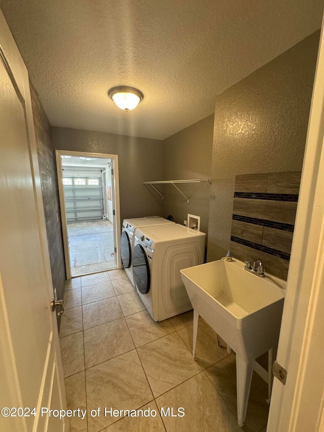
<path id="1" fill-rule="evenodd" d="M 236 355 L 237 421 L 242 427 L 247 416 L 254 360 L 246 362 Z"/>

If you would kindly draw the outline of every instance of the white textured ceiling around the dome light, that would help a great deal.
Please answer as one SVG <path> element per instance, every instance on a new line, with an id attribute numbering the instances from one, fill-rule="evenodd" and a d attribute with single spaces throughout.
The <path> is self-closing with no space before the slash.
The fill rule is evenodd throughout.
<path id="1" fill-rule="evenodd" d="M 0 0 L 53 126 L 164 139 L 321 25 L 323 0 Z M 107 90 L 137 87 L 129 112 Z"/>

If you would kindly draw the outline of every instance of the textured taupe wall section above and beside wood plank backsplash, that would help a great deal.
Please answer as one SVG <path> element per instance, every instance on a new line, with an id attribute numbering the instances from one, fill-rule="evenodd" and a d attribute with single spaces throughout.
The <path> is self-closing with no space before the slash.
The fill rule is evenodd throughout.
<path id="1" fill-rule="evenodd" d="M 230 247 L 235 175 L 302 168 L 318 42 L 319 31 L 216 97 L 209 261 Z"/>

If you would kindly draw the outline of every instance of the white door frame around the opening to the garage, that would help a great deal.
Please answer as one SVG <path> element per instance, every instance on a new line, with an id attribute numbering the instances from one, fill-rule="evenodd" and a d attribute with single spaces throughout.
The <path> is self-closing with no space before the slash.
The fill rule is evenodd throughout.
<path id="1" fill-rule="evenodd" d="M 120 201 L 119 201 L 119 172 L 118 172 L 118 155 L 117 154 L 105 154 L 105 153 L 90 153 L 86 151 L 72 151 L 72 150 L 55 150 L 56 157 L 56 170 L 59 190 L 59 201 L 61 209 L 61 221 L 62 221 L 62 232 L 63 232 L 63 246 L 64 246 L 64 257 L 66 267 L 66 279 L 71 279 L 71 261 L 70 252 L 68 245 L 68 232 L 67 232 L 67 219 L 66 219 L 66 208 L 64 201 L 64 187 L 63 187 L 63 170 L 62 170 L 62 155 L 70 156 L 82 156 L 85 158 L 99 158 L 99 159 L 112 159 L 114 165 L 114 176 L 113 176 L 113 188 L 115 197 L 115 227 L 114 232 L 116 233 L 116 248 L 117 248 L 117 268 L 121 268 L 121 257 L 120 257 Z"/>

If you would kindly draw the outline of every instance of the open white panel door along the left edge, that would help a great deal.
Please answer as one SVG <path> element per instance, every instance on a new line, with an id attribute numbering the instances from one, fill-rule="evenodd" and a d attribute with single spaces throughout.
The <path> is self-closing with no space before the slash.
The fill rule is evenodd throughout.
<path id="1" fill-rule="evenodd" d="M 66 402 L 28 74 L 1 11 L 0 203 L 0 430 L 60 432 L 46 413 Z"/>

